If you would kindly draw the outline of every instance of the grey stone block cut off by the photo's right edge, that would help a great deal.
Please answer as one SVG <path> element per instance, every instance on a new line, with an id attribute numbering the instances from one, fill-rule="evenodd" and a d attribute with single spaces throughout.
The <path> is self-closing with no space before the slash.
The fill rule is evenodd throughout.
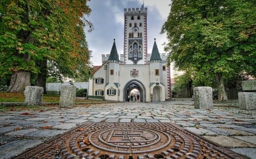
<path id="1" fill-rule="evenodd" d="M 238 92 L 239 109 L 256 110 L 255 92 Z"/>

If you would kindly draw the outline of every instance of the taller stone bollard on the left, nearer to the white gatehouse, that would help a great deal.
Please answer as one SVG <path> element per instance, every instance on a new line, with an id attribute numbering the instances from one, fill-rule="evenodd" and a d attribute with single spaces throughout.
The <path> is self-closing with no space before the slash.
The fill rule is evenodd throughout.
<path id="1" fill-rule="evenodd" d="M 60 107 L 73 107 L 76 100 L 76 86 L 62 85 L 60 90 Z"/>

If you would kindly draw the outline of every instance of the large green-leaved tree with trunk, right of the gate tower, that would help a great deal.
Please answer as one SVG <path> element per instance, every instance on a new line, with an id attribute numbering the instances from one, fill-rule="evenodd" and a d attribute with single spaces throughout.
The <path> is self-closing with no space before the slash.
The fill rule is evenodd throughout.
<path id="1" fill-rule="evenodd" d="M 180 70 L 195 70 L 217 81 L 218 100 L 228 100 L 225 81 L 245 71 L 255 74 L 256 1 L 173 0 L 162 33 L 166 51 Z M 212 83 L 212 82 L 207 82 Z"/>

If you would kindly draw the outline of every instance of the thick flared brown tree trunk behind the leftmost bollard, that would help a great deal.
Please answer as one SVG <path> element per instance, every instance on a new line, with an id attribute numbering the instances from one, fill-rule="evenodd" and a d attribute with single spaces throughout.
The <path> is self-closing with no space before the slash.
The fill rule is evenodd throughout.
<path id="1" fill-rule="evenodd" d="M 30 85 L 30 72 L 19 70 L 11 75 L 10 86 L 7 92 L 24 92 L 26 86 Z"/>

